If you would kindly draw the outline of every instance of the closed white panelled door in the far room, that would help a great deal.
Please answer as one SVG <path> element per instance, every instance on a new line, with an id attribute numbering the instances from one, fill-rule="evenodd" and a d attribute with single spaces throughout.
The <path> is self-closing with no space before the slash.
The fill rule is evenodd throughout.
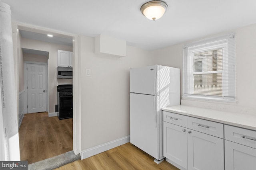
<path id="1" fill-rule="evenodd" d="M 46 65 L 27 64 L 28 113 L 46 111 Z"/>

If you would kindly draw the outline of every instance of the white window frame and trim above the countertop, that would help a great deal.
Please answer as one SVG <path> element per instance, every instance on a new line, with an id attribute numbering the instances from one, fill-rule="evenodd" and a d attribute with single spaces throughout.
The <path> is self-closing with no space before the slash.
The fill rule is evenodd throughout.
<path id="1" fill-rule="evenodd" d="M 233 47 L 230 49 L 229 45 L 233 43 Z M 188 45 L 184 45 L 184 57 L 183 57 L 183 64 L 184 64 L 184 78 L 183 78 L 183 95 L 182 99 L 190 99 L 190 100 L 207 100 L 207 101 L 220 101 L 220 102 L 235 102 L 235 81 L 234 75 L 235 72 L 232 71 L 232 75 L 228 68 L 234 69 L 234 60 L 235 60 L 235 48 L 234 48 L 234 33 L 215 37 L 211 39 L 205 39 L 202 41 L 198 41 L 195 43 L 190 43 Z M 194 53 L 202 52 L 202 51 L 211 51 L 214 49 L 224 49 L 223 51 L 223 67 L 221 71 L 211 71 L 207 73 L 222 73 L 222 78 L 228 78 L 228 86 L 224 86 L 224 81 L 222 81 L 222 96 L 211 96 L 211 95 L 200 95 L 200 94 L 193 94 L 194 85 L 194 76 L 195 73 L 193 70 L 194 63 L 193 57 Z M 230 57 L 232 61 L 230 61 Z M 225 61 L 225 62 L 224 62 Z M 196 74 L 202 74 L 206 72 L 196 72 Z M 229 75 L 230 74 L 230 75 Z M 230 88 L 231 87 L 231 88 Z M 189 90 L 190 88 L 190 90 Z M 231 90 L 230 90 L 230 89 Z M 230 95 L 232 94 L 232 95 Z"/>

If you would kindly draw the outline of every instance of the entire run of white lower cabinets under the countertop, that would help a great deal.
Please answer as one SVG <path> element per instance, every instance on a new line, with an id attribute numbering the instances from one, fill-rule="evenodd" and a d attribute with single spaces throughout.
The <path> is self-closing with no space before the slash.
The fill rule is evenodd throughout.
<path id="1" fill-rule="evenodd" d="M 163 155 L 180 170 L 256 170 L 255 130 L 162 113 Z"/>

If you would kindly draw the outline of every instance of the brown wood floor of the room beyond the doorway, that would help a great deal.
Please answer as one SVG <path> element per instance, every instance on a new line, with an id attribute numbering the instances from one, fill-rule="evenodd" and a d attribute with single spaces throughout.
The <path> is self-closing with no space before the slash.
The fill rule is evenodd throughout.
<path id="1" fill-rule="evenodd" d="M 19 129 L 20 160 L 28 164 L 73 150 L 73 119 L 48 117 L 48 112 L 25 114 Z"/>

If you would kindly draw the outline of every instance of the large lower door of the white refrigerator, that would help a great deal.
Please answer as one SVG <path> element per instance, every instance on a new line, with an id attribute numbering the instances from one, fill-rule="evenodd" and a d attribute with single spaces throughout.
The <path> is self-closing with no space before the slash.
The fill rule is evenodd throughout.
<path id="1" fill-rule="evenodd" d="M 157 96 L 130 93 L 130 143 L 159 160 Z"/>

